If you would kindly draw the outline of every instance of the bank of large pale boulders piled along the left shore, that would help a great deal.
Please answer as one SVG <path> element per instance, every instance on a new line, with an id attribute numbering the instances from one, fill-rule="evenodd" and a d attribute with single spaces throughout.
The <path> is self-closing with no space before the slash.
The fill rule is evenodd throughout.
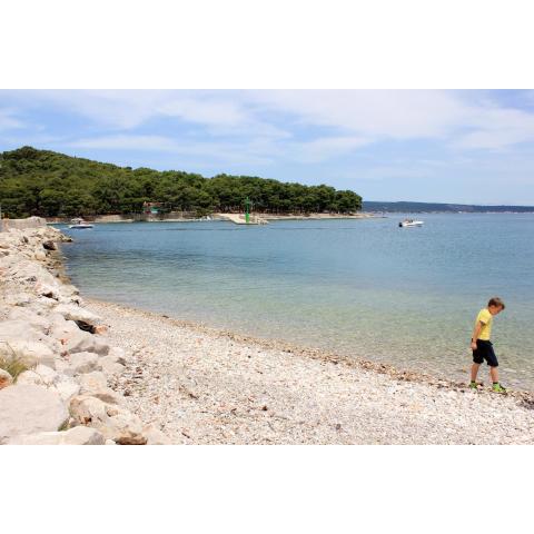
<path id="1" fill-rule="evenodd" d="M 166 444 L 109 384 L 127 355 L 61 280 L 53 228 L 0 234 L 0 444 Z"/>

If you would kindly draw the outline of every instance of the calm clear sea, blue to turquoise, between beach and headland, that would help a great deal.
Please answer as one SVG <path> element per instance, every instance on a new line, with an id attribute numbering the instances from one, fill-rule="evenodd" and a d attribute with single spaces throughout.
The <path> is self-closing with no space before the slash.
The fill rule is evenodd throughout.
<path id="1" fill-rule="evenodd" d="M 534 389 L 534 215 L 400 218 L 98 225 L 63 253 L 88 296 L 453 378 L 497 295 L 503 383 Z"/>

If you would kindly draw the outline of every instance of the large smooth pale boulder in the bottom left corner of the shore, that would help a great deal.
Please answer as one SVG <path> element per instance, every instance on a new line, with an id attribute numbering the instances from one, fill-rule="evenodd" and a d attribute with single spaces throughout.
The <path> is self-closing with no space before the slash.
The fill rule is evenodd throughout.
<path id="1" fill-rule="evenodd" d="M 60 396 L 40 386 L 0 389 L 0 444 L 18 435 L 58 431 L 69 419 Z"/>

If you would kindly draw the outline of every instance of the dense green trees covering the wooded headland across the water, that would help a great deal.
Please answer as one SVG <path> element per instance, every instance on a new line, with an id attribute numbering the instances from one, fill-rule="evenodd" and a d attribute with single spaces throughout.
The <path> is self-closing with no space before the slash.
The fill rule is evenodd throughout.
<path id="1" fill-rule="evenodd" d="M 333 187 L 283 184 L 250 176 L 132 169 L 22 147 L 0 155 L 0 202 L 9 217 L 141 212 L 144 202 L 167 210 L 274 214 L 354 212 L 362 197 Z"/>

